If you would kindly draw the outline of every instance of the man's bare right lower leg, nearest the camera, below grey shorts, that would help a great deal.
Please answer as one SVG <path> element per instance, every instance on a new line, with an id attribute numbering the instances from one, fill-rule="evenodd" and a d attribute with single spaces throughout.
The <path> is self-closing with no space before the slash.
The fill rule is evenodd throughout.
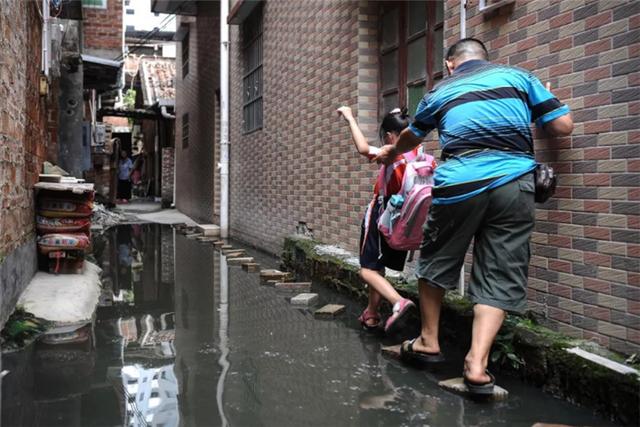
<path id="1" fill-rule="evenodd" d="M 473 331 L 471 348 L 464 358 L 464 371 L 467 379 L 474 383 L 489 382 L 485 373 L 489 363 L 489 352 L 493 341 L 504 321 L 504 310 L 484 304 L 473 307 Z"/>

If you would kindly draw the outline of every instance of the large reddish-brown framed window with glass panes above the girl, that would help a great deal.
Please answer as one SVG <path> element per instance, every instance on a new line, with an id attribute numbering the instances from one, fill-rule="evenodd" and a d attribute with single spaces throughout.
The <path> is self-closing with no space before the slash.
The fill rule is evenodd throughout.
<path id="1" fill-rule="evenodd" d="M 415 114 L 443 77 L 444 2 L 386 2 L 380 7 L 380 115 L 407 106 Z"/>

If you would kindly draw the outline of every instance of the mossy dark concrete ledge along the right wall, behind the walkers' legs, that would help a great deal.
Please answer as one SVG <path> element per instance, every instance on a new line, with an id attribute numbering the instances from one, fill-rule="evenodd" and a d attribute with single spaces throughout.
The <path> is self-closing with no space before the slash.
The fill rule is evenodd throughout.
<path id="1" fill-rule="evenodd" d="M 353 255 L 326 251 L 326 245 L 306 237 L 285 239 L 282 253 L 283 268 L 295 272 L 300 280 L 312 280 L 335 287 L 366 301 L 367 292 Z M 320 248 L 320 250 L 318 250 Z M 327 253 L 328 252 L 328 253 Z M 417 283 L 389 278 L 399 293 L 417 301 Z M 468 349 L 473 320 L 473 306 L 466 299 L 449 293 L 442 307 L 441 333 L 464 350 Z M 501 334 L 513 334 L 514 352 L 524 364 L 517 369 L 492 366 L 493 371 L 508 372 L 523 381 L 538 386 L 556 397 L 591 408 L 623 424 L 638 425 L 640 419 L 640 381 L 637 374 L 611 369 L 585 358 L 571 348 L 593 348 L 594 344 L 573 340 L 531 320 L 509 317 Z M 599 352 L 606 350 L 599 348 Z M 624 360 L 607 352 L 610 358 Z M 460 361 L 462 363 L 462 361 Z"/>

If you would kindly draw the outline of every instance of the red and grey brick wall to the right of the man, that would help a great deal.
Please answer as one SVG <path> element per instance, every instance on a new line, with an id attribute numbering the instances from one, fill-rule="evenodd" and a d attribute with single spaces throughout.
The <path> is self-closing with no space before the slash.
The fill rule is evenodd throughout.
<path id="1" fill-rule="evenodd" d="M 447 41 L 459 37 L 449 4 Z M 493 60 L 534 72 L 573 110 L 569 138 L 536 141 L 560 172 L 556 196 L 537 211 L 529 305 L 571 336 L 624 353 L 640 350 L 640 3 L 518 1 L 467 35 Z"/>

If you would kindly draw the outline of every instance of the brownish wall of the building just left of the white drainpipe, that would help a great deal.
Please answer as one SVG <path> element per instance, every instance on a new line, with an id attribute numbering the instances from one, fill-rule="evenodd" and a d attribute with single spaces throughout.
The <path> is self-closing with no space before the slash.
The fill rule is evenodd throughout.
<path id="1" fill-rule="evenodd" d="M 220 11 L 216 2 L 198 4 L 197 19 L 180 17 L 189 26 L 189 72 L 182 75 L 182 46 L 176 54 L 176 206 L 197 221 L 214 221 L 217 173 L 217 93 L 219 88 Z M 183 146 L 183 115 L 189 115 L 188 147 Z"/>

